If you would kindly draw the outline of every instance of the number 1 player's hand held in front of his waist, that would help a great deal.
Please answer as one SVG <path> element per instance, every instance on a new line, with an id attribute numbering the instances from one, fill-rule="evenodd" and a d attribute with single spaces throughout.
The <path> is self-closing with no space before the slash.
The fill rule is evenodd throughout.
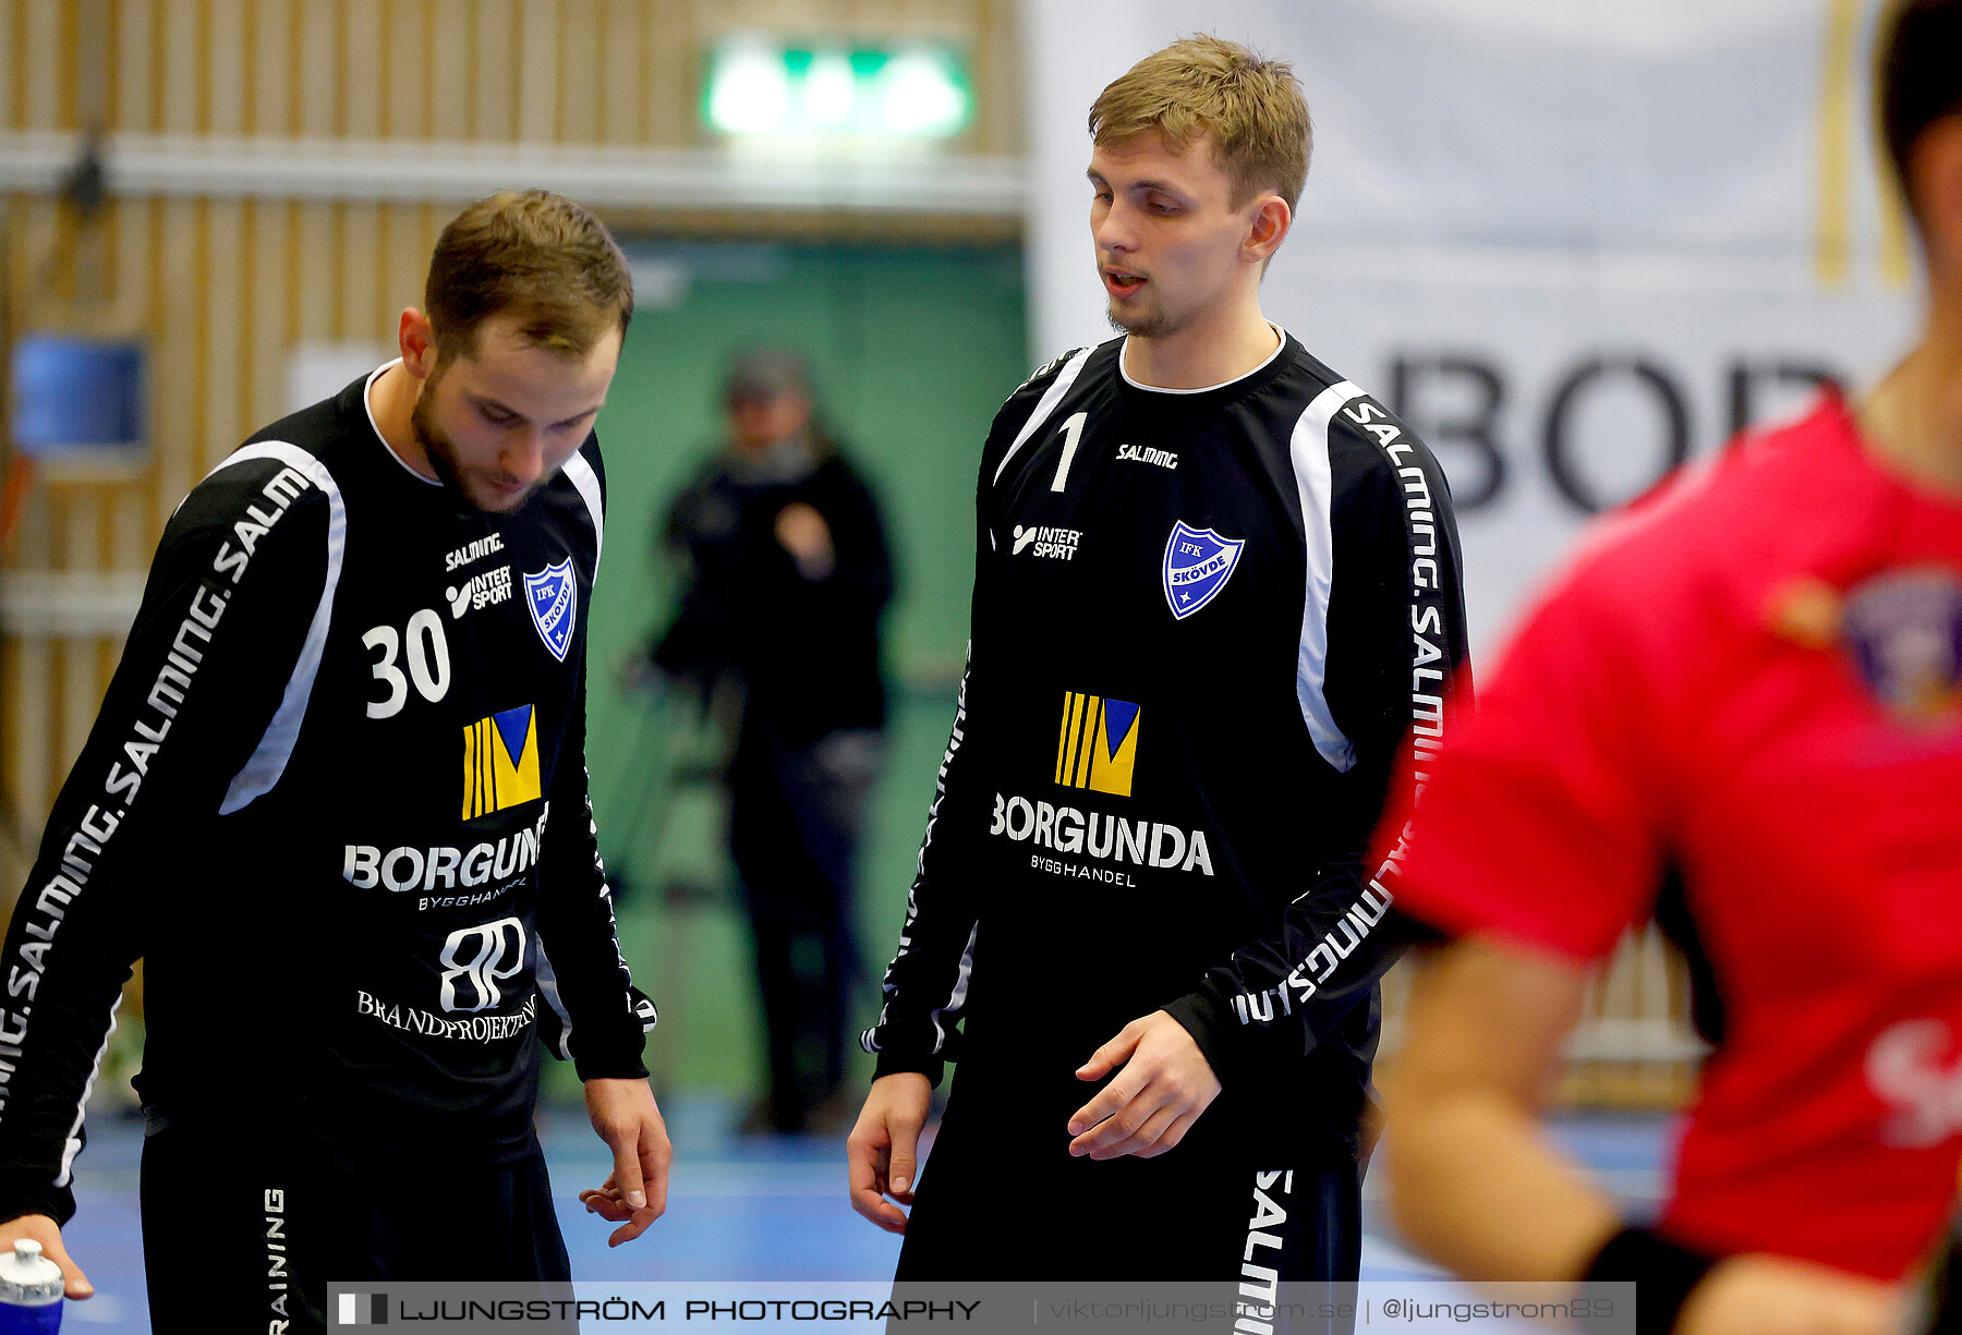
<path id="1" fill-rule="evenodd" d="M 1103 1080 L 1097 1098 L 1069 1117 L 1069 1153 L 1091 1159 L 1156 1159 L 1185 1139 L 1220 1094 L 1213 1064 L 1177 1019 L 1158 1010 L 1124 1025 L 1077 1066 L 1077 1080 Z"/>

